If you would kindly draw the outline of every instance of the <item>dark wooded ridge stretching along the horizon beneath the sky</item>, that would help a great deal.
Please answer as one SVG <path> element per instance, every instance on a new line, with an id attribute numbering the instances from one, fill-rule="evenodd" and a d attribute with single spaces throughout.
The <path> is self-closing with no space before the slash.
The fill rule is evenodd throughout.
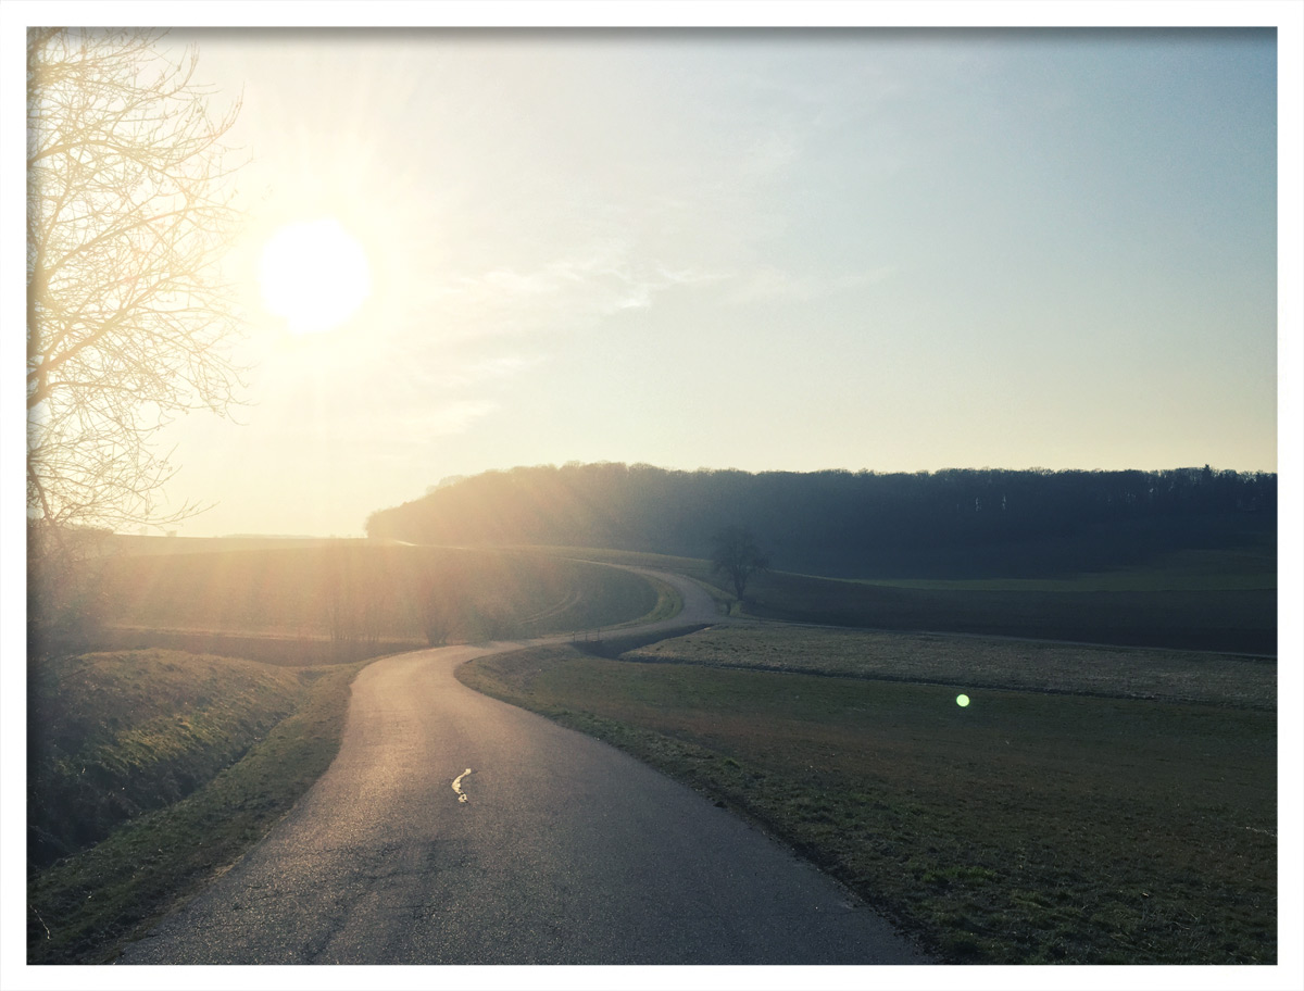
<path id="1" fill-rule="evenodd" d="M 726 527 L 771 565 L 825 575 L 964 576 L 1104 567 L 1275 533 L 1277 475 L 945 469 L 694 472 L 622 463 L 459 477 L 373 512 L 417 544 L 610 548 L 703 558 Z"/>

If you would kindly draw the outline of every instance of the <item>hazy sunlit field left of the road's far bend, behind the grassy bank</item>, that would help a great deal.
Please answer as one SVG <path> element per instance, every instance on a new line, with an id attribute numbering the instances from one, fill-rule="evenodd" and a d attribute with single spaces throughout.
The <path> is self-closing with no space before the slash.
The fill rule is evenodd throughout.
<path id="1" fill-rule="evenodd" d="M 151 630 L 403 649 L 612 626 L 657 605 L 655 588 L 615 569 L 390 541 L 119 554 L 103 569 L 121 645 Z"/>

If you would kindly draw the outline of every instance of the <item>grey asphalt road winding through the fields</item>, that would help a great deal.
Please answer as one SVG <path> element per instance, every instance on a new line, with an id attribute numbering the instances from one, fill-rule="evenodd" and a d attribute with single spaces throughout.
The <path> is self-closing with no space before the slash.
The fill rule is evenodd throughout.
<path id="1" fill-rule="evenodd" d="M 716 619 L 695 584 L 655 574 L 685 597 L 660 626 Z M 329 771 L 119 962 L 927 962 L 696 793 L 452 677 L 520 645 L 365 668 Z"/>

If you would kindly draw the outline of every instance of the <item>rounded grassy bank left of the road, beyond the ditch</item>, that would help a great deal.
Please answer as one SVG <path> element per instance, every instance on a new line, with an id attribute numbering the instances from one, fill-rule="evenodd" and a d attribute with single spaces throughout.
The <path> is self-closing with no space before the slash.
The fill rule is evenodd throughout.
<path id="1" fill-rule="evenodd" d="M 29 871 L 190 794 L 305 692 L 283 668 L 171 651 L 33 660 L 27 677 Z"/>

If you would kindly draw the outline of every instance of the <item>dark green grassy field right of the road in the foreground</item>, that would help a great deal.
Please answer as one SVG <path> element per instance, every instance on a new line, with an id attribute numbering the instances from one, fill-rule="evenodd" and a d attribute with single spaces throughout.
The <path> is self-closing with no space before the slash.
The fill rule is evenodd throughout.
<path id="1" fill-rule="evenodd" d="M 751 819 L 948 962 L 1275 962 L 1274 711 L 974 688 L 951 662 L 915 683 L 557 647 L 458 677 Z"/>

